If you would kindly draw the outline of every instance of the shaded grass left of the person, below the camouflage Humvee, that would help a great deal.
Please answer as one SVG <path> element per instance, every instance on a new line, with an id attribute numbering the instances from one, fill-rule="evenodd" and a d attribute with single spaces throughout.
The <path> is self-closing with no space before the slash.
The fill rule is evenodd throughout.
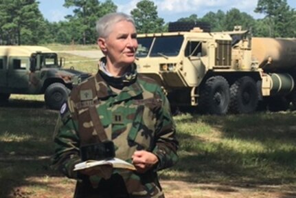
<path id="1" fill-rule="evenodd" d="M 24 106 L 0 107 L 0 197 L 30 197 L 17 191 L 30 177 L 54 176 L 49 167 L 58 113 Z"/>

